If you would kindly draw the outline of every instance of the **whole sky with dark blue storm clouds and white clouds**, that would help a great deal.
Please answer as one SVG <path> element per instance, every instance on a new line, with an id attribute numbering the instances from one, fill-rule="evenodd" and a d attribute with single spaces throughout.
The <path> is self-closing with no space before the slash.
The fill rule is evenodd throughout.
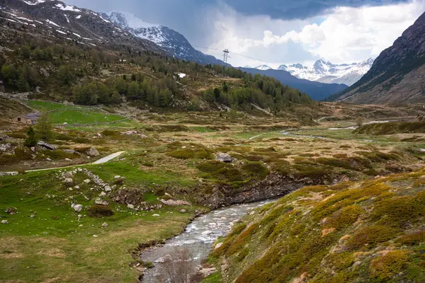
<path id="1" fill-rule="evenodd" d="M 378 57 L 425 11 L 425 0 L 65 0 L 127 11 L 183 34 L 233 66 L 344 64 Z"/>

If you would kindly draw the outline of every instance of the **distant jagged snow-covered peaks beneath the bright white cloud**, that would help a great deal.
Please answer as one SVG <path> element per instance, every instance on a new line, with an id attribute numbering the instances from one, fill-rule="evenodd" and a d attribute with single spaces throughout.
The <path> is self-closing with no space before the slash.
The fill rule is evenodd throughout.
<path id="1" fill-rule="evenodd" d="M 305 67 L 302 64 L 289 66 L 283 64 L 278 67 L 278 70 L 288 71 L 299 79 L 320 83 L 344 83 L 351 86 L 369 71 L 373 61 L 372 58 L 369 58 L 360 63 L 332 64 L 331 62 L 317 60 L 312 67 Z"/>

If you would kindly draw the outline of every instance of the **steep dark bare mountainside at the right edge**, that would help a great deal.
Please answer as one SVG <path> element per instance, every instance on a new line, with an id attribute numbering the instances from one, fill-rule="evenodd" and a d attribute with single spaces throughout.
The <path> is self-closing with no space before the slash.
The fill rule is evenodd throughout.
<path id="1" fill-rule="evenodd" d="M 382 51 L 360 81 L 332 100 L 351 103 L 425 101 L 425 13 Z"/>

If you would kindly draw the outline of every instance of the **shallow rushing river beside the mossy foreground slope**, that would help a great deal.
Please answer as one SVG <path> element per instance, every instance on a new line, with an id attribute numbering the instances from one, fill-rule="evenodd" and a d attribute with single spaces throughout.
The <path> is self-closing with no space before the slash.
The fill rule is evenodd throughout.
<path id="1" fill-rule="evenodd" d="M 170 255 L 175 248 L 187 248 L 193 256 L 194 266 L 200 264 L 202 258 L 206 258 L 212 248 L 212 243 L 220 236 L 226 236 L 232 229 L 232 225 L 242 216 L 260 207 L 263 204 L 273 202 L 265 200 L 262 202 L 252 202 L 249 204 L 237 204 L 232 207 L 223 207 L 207 214 L 199 216 L 186 227 L 186 230 L 179 236 L 171 238 L 166 244 L 159 248 L 146 250 L 141 258 L 145 262 L 155 262 L 159 258 Z M 154 268 L 145 271 L 143 282 L 157 282 L 161 263 L 154 263 Z"/>

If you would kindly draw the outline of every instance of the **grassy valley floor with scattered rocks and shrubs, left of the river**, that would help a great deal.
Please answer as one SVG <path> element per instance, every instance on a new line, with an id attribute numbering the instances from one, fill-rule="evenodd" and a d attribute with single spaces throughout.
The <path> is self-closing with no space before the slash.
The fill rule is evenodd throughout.
<path id="1" fill-rule="evenodd" d="M 64 125 L 60 111 L 52 116 L 55 151 L 24 149 L 27 127 L 2 126 L 0 171 L 19 174 L 0 177 L 0 282 L 135 282 L 149 265 L 140 250 L 181 233 L 196 214 L 424 166 L 423 134 L 354 134 L 355 119 L 300 127 L 267 115 L 188 112 L 89 125 L 90 115 L 100 117 L 88 110 L 79 125 L 72 115 Z M 91 147 L 96 158 L 125 152 L 24 172 L 87 163 Z M 220 153 L 232 162 L 215 161 Z"/>

